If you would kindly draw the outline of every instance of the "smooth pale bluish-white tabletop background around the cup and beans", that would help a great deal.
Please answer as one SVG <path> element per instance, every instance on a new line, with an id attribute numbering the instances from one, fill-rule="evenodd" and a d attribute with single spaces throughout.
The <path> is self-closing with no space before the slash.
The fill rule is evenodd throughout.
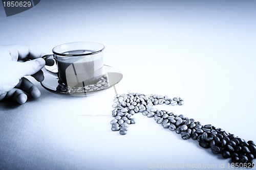
<path id="1" fill-rule="evenodd" d="M 0 44 L 28 44 L 50 54 L 66 42 L 102 43 L 104 64 L 124 76 L 118 93 L 181 97 L 183 106 L 159 108 L 256 141 L 255 6 L 254 1 L 41 1 L 6 17 L 0 5 Z M 141 114 L 127 135 L 112 132 L 113 88 L 70 98 L 33 82 L 39 99 L 22 106 L 0 102 L 0 168 L 148 169 L 151 163 L 228 168 L 228 160 Z"/>

